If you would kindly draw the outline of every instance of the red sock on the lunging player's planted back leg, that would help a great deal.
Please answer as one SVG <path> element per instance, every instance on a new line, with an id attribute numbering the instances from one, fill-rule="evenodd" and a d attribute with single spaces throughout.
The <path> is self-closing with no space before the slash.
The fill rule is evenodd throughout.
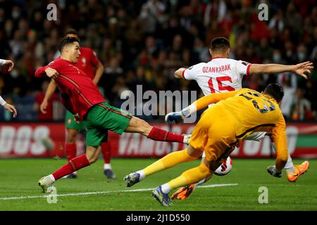
<path id="1" fill-rule="evenodd" d="M 83 167 L 89 166 L 90 163 L 86 157 L 86 155 L 80 155 L 76 158 L 73 158 L 73 160 L 70 160 L 66 165 L 63 165 L 63 167 L 56 170 L 56 172 L 52 173 L 55 180 L 57 181 L 63 176 L 66 176 L 68 174 L 71 174 L 78 169 L 81 169 Z"/>

